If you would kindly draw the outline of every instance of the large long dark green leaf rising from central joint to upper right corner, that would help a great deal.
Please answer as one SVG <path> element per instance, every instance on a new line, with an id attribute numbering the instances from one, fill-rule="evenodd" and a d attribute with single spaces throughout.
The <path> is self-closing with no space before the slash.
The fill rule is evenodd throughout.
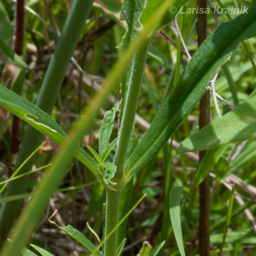
<path id="1" fill-rule="evenodd" d="M 206 92 L 206 86 L 221 65 L 244 39 L 256 34 L 256 2 L 234 20 L 222 23 L 193 55 L 180 80 L 164 100 L 148 131 L 125 166 L 125 176 L 138 170 L 168 141 L 182 120 Z M 228 35 L 228 36 L 227 36 Z"/>

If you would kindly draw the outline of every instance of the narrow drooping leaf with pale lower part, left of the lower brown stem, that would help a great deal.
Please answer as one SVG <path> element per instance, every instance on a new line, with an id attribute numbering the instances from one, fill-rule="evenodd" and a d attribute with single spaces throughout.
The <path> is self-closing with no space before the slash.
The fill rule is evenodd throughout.
<path id="1" fill-rule="evenodd" d="M 173 187 L 169 195 L 169 207 L 170 207 L 170 217 L 172 222 L 172 228 L 176 242 L 179 247 L 180 255 L 185 256 L 182 231 L 180 225 L 180 196 L 183 187 Z"/>

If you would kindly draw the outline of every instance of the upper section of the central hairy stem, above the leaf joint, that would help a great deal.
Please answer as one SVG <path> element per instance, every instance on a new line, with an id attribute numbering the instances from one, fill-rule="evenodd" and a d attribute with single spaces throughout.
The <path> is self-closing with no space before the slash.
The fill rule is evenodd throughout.
<path id="1" fill-rule="evenodd" d="M 128 150 L 129 140 L 132 134 L 134 118 L 140 95 L 141 82 L 144 74 L 146 58 L 148 54 L 150 40 L 147 40 L 132 59 L 132 68 L 128 85 L 128 92 L 125 98 L 124 112 L 118 134 L 116 154 L 114 164 L 116 165 L 115 178 L 121 179 L 123 176 L 124 164 Z"/>

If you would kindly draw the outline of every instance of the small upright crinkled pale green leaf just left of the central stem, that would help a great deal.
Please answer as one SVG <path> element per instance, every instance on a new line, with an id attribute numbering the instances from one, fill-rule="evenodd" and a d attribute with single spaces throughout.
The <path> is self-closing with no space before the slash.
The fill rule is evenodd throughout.
<path id="1" fill-rule="evenodd" d="M 99 137 L 99 156 L 101 157 L 102 153 L 108 147 L 108 141 L 110 139 L 113 123 L 115 120 L 116 112 L 118 111 L 118 103 L 111 109 L 106 111 L 101 128 L 100 128 L 100 137 Z"/>

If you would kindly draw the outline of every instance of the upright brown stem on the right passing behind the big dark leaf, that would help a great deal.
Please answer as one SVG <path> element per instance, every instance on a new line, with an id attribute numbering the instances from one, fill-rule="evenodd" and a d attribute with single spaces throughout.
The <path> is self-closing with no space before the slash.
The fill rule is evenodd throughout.
<path id="1" fill-rule="evenodd" d="M 206 10 L 206 0 L 197 0 L 198 8 Z M 207 37 L 207 14 L 198 13 L 197 16 L 197 35 L 198 46 L 200 46 Z M 206 85 L 205 85 L 206 86 Z M 207 91 L 199 102 L 199 129 L 210 123 L 210 96 Z M 205 151 L 199 152 L 199 161 L 204 157 Z M 210 255 L 210 230 L 209 230 L 209 200 L 210 187 L 209 176 L 199 185 L 199 255 Z"/>

